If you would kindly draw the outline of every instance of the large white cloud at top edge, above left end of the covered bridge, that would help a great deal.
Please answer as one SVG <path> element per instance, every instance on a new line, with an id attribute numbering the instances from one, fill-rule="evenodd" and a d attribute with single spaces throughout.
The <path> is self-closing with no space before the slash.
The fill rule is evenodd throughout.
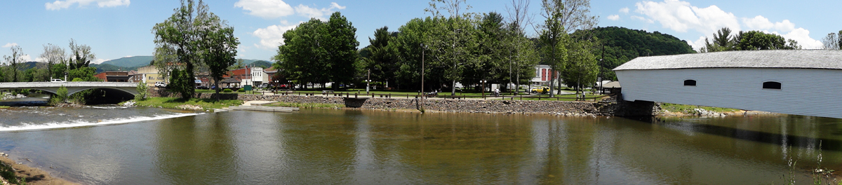
<path id="1" fill-rule="evenodd" d="M 703 34 L 712 34 L 724 27 L 740 30 L 737 17 L 733 13 L 722 11 L 715 5 L 698 8 L 678 0 L 664 0 L 661 3 L 644 1 L 635 5 L 637 6 L 635 12 L 646 15 L 647 19 L 653 19 L 664 28 L 677 32 L 693 29 Z"/>

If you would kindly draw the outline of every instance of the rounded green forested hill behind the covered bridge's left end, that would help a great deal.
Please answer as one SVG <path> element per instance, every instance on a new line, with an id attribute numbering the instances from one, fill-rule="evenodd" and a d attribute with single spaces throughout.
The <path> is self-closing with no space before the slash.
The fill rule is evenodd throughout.
<path id="1" fill-rule="evenodd" d="M 616 81 L 614 69 L 637 56 L 668 56 L 695 53 L 685 40 L 658 31 L 649 33 L 644 30 L 621 27 L 594 29 L 594 36 L 605 45 L 605 57 L 600 62 L 600 76 Z M 603 58 L 602 48 L 594 51 L 597 58 Z"/>

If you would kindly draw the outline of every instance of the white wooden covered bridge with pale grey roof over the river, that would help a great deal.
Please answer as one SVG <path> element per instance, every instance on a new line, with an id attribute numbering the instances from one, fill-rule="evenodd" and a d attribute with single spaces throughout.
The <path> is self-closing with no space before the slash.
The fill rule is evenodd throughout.
<path id="1" fill-rule="evenodd" d="M 626 101 L 842 119 L 842 51 L 751 50 L 638 57 L 614 69 Z"/>

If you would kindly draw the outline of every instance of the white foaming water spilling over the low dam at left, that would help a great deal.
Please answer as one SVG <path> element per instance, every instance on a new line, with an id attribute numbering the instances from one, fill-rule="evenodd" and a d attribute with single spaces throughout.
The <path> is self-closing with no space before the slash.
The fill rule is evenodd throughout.
<path id="1" fill-rule="evenodd" d="M 141 122 L 141 121 L 151 121 L 157 119 L 173 119 L 179 117 L 187 117 L 187 116 L 195 116 L 204 113 L 195 113 L 195 114 L 165 114 L 165 115 L 154 115 L 152 117 L 147 116 L 134 116 L 129 118 L 120 118 L 120 119 L 104 119 L 98 120 L 96 122 L 89 122 L 88 120 L 75 120 L 75 121 L 67 121 L 61 123 L 46 123 L 46 124 L 22 124 L 19 126 L 8 126 L 3 127 L 0 126 L 0 132 L 9 132 L 9 131 L 29 131 L 29 130 L 39 130 L 39 129 L 64 129 L 64 128 L 73 128 L 73 127 L 85 127 L 85 126 L 99 126 L 99 125 L 109 125 L 109 124 L 126 124 L 132 122 Z"/>

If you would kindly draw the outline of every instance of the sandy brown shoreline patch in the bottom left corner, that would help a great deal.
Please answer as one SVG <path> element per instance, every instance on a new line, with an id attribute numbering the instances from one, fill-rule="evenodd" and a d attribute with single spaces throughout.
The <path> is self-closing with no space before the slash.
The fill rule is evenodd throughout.
<path id="1" fill-rule="evenodd" d="M 72 185 L 72 184 L 79 184 L 75 182 L 69 182 L 65 179 L 52 177 L 49 172 L 45 172 L 37 167 L 26 166 L 23 164 L 19 164 L 17 161 L 14 161 L 12 158 L 15 156 L 2 156 L 0 157 L 0 161 L 7 165 L 11 165 L 12 168 L 15 169 L 15 174 L 18 177 L 24 177 L 26 179 L 26 184 L 29 185 Z"/>

